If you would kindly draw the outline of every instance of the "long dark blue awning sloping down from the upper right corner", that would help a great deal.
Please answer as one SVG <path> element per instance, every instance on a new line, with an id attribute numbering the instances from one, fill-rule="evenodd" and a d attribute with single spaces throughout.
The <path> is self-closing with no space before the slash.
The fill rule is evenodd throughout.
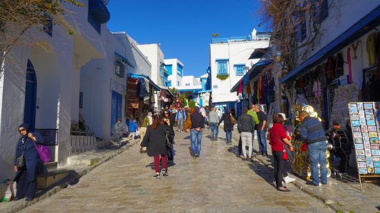
<path id="1" fill-rule="evenodd" d="M 345 30 L 339 37 L 336 37 L 329 44 L 325 45 L 324 48 L 316 52 L 312 57 L 304 61 L 301 65 L 299 65 L 294 70 L 290 71 L 285 77 L 280 79 L 280 83 L 284 83 L 289 80 L 293 80 L 296 77 L 301 77 L 310 69 L 314 68 L 316 65 L 319 65 L 322 61 L 325 61 L 327 57 L 336 54 L 345 46 L 350 45 L 353 41 L 356 41 L 364 34 L 370 32 L 370 30 L 376 29 L 377 26 L 380 25 L 380 6 L 377 6 L 370 13 L 365 15 L 361 20 L 357 23 L 354 23 L 353 26 Z"/>

